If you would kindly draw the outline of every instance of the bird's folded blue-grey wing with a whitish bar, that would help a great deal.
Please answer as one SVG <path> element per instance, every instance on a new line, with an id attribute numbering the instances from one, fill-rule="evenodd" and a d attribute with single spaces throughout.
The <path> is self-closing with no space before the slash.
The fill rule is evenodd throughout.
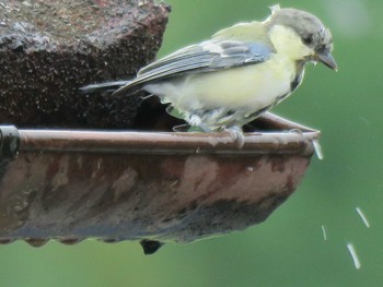
<path id="1" fill-rule="evenodd" d="M 114 94 L 130 94 L 150 82 L 190 73 L 207 73 L 256 64 L 269 59 L 274 48 L 243 40 L 211 40 L 185 47 L 142 68 L 137 77 Z"/>

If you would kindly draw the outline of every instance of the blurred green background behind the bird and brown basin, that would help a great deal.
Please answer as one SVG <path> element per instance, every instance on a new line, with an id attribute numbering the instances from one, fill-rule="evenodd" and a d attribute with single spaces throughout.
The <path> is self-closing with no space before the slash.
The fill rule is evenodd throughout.
<path id="1" fill-rule="evenodd" d="M 262 20 L 272 1 L 169 0 L 160 56 L 239 21 Z M 144 256 L 137 242 L 0 247 L 0 286 L 381 286 L 383 270 L 383 2 L 281 1 L 330 27 L 339 71 L 310 65 L 274 111 L 322 131 L 298 191 L 264 224 Z M 356 212 L 368 216 L 367 228 Z M 327 241 L 322 235 L 327 231 Z M 346 244 L 361 261 L 356 270 Z"/>

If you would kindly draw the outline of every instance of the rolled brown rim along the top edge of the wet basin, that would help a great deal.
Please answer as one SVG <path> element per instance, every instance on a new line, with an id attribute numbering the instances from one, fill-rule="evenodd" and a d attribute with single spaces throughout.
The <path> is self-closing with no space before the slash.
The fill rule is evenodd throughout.
<path id="1" fill-rule="evenodd" d="M 263 120 L 276 127 L 272 132 L 245 133 L 245 144 L 239 148 L 229 133 L 137 132 L 90 130 L 18 130 L 18 152 L 84 152 L 84 153 L 224 153 L 224 154 L 302 154 L 313 152 L 313 140 L 320 132 L 268 113 Z M 1 128 L 1 127 L 0 127 Z M 10 129 L 10 127 L 7 127 Z"/>

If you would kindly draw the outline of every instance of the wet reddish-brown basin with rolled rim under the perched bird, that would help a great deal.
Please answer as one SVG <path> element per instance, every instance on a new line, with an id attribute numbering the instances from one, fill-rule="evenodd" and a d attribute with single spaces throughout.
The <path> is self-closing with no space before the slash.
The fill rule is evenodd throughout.
<path id="1" fill-rule="evenodd" d="M 192 242 L 265 220 L 298 187 L 320 132 L 271 113 L 227 133 L 2 125 L 0 242 Z M 152 247 L 154 244 L 154 247 Z"/>

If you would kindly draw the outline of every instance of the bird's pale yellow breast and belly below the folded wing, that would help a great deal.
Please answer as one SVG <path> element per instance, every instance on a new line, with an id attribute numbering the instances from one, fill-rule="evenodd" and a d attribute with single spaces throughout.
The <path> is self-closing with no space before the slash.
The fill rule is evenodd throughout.
<path id="1" fill-rule="evenodd" d="M 264 63 L 187 76 L 146 87 L 181 110 L 228 107 L 262 109 L 290 92 L 295 63 L 281 55 Z"/>

